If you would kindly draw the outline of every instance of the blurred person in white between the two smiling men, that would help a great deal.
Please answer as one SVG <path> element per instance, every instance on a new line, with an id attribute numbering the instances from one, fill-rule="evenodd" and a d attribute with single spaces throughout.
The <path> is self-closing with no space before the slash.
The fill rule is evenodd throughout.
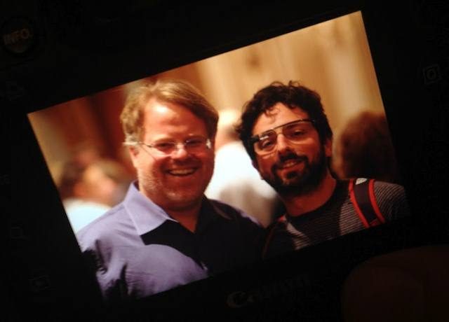
<path id="1" fill-rule="evenodd" d="M 220 111 L 215 139 L 215 169 L 206 196 L 242 209 L 267 227 L 272 223 L 279 203 L 276 191 L 262 180 L 251 165 L 234 123 L 235 109 Z"/>

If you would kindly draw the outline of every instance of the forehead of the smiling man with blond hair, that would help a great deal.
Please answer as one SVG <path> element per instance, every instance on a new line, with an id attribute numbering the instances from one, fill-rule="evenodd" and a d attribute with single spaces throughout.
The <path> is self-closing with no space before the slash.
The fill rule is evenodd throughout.
<path id="1" fill-rule="evenodd" d="M 151 99 L 144 109 L 144 137 L 207 135 L 206 123 L 180 104 Z"/>

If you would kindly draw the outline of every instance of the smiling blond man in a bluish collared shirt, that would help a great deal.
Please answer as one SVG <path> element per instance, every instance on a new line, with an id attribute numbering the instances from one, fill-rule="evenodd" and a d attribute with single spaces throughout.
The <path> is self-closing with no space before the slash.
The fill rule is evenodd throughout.
<path id="1" fill-rule="evenodd" d="M 121 123 L 138 181 L 77 235 L 108 304 L 260 258 L 260 225 L 203 194 L 213 174 L 217 120 L 198 90 L 179 80 L 158 80 L 128 96 Z"/>

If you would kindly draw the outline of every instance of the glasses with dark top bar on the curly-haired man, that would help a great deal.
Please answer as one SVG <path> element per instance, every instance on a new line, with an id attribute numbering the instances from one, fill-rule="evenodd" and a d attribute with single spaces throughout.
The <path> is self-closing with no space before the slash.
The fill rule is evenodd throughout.
<path id="1" fill-rule="evenodd" d="M 255 153 L 267 155 L 274 152 L 279 134 L 282 133 L 293 144 L 300 144 L 308 137 L 309 132 L 314 128 L 314 123 L 314 120 L 302 118 L 255 135 L 249 141 L 254 145 Z"/>

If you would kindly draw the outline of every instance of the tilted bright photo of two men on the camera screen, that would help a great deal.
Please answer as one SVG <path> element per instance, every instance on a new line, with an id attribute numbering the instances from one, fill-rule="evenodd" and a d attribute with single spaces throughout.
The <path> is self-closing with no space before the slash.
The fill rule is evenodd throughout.
<path id="1" fill-rule="evenodd" d="M 107 303 L 408 215 L 361 12 L 28 117 Z"/>

